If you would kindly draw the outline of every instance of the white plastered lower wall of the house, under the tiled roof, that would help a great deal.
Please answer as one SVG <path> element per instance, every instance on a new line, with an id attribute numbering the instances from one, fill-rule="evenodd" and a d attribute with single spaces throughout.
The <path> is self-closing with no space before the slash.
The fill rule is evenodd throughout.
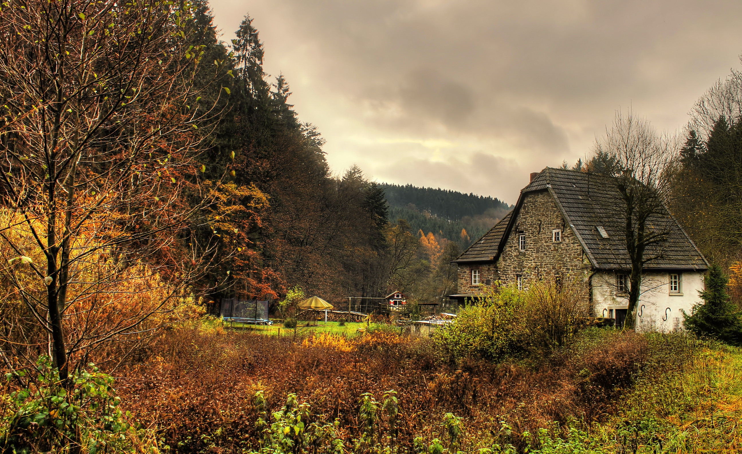
<path id="1" fill-rule="evenodd" d="M 683 311 L 690 315 L 693 306 L 702 302 L 698 292 L 703 290 L 703 273 L 678 274 L 681 274 L 680 294 L 669 292 L 669 273 L 648 272 L 643 275 L 642 295 L 637 305 L 637 315 L 640 315 L 637 318 L 638 330 L 669 332 L 682 329 Z M 614 272 L 596 272 L 591 283 L 596 317 L 607 316 L 608 309 L 626 309 L 628 297 L 616 295 Z"/>

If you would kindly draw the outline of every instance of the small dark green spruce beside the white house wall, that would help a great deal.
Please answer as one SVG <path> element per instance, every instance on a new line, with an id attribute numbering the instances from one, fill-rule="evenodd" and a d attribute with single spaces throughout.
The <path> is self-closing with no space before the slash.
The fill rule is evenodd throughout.
<path id="1" fill-rule="evenodd" d="M 706 276 L 706 290 L 700 292 L 703 304 L 693 315 L 685 315 L 686 328 L 697 335 L 707 335 L 732 345 L 742 344 L 740 312 L 726 291 L 728 277 L 721 267 L 712 265 Z"/>

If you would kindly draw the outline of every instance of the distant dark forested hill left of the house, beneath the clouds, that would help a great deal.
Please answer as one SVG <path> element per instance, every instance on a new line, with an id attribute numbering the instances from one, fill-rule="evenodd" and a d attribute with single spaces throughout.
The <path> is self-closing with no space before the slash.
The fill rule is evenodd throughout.
<path id="1" fill-rule="evenodd" d="M 379 185 L 389 203 L 389 219 L 407 220 L 413 231 L 433 232 L 467 248 L 512 208 L 494 197 L 413 185 Z"/>

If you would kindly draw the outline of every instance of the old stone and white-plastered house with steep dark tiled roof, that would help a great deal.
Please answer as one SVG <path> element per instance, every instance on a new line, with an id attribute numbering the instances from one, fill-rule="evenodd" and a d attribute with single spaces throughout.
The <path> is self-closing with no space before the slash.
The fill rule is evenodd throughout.
<path id="1" fill-rule="evenodd" d="M 454 260 L 459 287 L 450 297 L 476 299 L 493 285 L 527 289 L 536 279 L 569 281 L 595 317 L 623 326 L 631 262 L 623 235 L 598 203 L 597 194 L 611 191 L 605 181 L 562 168 L 531 174 L 515 208 Z M 652 221 L 670 233 L 646 251 L 652 260 L 644 268 L 637 328 L 680 329 L 682 312 L 700 302 L 709 264 L 670 214 Z"/>

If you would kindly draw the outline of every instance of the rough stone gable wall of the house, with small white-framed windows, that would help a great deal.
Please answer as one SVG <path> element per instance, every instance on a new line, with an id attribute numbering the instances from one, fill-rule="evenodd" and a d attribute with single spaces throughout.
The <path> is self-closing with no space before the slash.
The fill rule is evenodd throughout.
<path id="1" fill-rule="evenodd" d="M 553 232 L 561 230 L 561 241 L 554 243 Z M 525 251 L 519 250 L 519 234 L 525 234 Z M 505 247 L 497 260 L 497 272 L 503 285 L 522 276 L 523 286 L 533 279 L 559 278 L 577 282 L 588 290 L 590 262 L 582 245 L 562 217 L 548 191 L 525 195 Z"/>

